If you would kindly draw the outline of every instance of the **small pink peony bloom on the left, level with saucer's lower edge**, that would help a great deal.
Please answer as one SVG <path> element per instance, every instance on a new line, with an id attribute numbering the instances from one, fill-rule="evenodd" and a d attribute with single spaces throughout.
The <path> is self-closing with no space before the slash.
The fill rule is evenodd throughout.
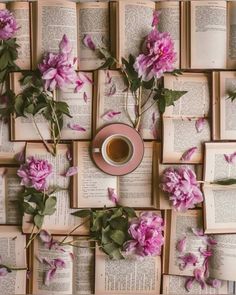
<path id="1" fill-rule="evenodd" d="M 43 191 L 47 189 L 47 178 L 52 173 L 52 165 L 46 160 L 38 160 L 30 157 L 22 164 L 17 175 L 22 178 L 21 185 L 33 187 Z"/>

